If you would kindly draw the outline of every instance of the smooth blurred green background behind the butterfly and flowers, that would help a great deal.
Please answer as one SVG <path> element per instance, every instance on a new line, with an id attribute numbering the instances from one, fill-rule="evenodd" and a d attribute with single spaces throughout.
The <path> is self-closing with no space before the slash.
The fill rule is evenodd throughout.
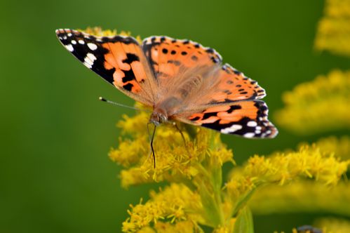
<path id="1" fill-rule="evenodd" d="M 1 1 L 0 232 L 120 232 L 129 204 L 150 187 L 120 187 L 107 157 L 115 124 L 133 105 L 86 69 L 55 37 L 57 28 L 119 29 L 187 38 L 219 51 L 224 62 L 267 90 L 270 112 L 302 81 L 349 69 L 349 58 L 314 51 L 323 1 Z M 273 121 L 273 119 L 272 119 Z M 241 164 L 249 156 L 294 148 L 280 129 L 274 140 L 222 138 Z M 256 232 L 310 224 L 313 215 L 256 216 Z"/>

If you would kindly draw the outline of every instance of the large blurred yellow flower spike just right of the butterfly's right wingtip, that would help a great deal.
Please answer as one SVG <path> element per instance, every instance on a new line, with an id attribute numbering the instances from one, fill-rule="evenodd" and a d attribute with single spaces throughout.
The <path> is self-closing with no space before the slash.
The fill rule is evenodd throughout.
<path id="1" fill-rule="evenodd" d="M 295 133 L 317 133 L 350 128 L 350 71 L 334 70 L 328 76 L 299 84 L 283 94 L 285 107 L 276 122 Z"/>

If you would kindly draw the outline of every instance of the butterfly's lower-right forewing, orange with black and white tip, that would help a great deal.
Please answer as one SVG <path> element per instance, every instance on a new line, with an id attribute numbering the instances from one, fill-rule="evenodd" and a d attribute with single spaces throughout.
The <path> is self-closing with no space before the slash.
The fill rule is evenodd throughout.
<path id="1" fill-rule="evenodd" d="M 187 116 L 185 122 L 245 138 L 274 138 L 278 131 L 267 119 L 267 113 L 267 105 L 261 100 L 239 101 L 208 107 Z"/>

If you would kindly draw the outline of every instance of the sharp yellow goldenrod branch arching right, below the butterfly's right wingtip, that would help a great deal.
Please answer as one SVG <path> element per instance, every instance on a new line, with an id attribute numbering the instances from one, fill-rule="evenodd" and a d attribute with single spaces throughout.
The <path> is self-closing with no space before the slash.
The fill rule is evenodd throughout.
<path id="1" fill-rule="evenodd" d="M 325 185 L 336 185 L 349 164 L 350 160 L 339 161 L 333 152 L 321 152 L 315 145 L 304 145 L 297 152 L 275 153 L 269 157 L 255 155 L 243 168 L 231 171 L 225 186 L 226 199 L 232 202 L 231 213 L 236 213 L 257 187 L 263 185 L 285 185 L 297 178 L 314 178 Z"/>

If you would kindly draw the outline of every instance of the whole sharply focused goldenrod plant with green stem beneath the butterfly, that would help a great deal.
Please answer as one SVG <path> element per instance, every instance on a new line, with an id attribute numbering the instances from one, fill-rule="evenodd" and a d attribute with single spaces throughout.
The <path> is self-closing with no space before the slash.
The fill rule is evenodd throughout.
<path id="1" fill-rule="evenodd" d="M 337 146 L 337 140 L 330 139 L 325 151 L 316 145 L 302 145 L 295 152 L 251 157 L 244 166 L 234 168 L 222 185 L 222 164 L 233 160 L 218 133 L 183 128 L 184 142 L 175 126 L 160 126 L 154 147 L 154 168 L 149 157 L 148 114 L 139 112 L 123 118 L 118 124 L 123 138 L 119 140 L 119 148 L 109 154 L 125 167 L 121 171 L 123 186 L 170 182 L 159 192 L 151 192 L 149 201 L 130 206 L 123 232 L 160 232 L 161 229 L 201 232 L 201 225 L 212 227 L 213 232 L 233 232 L 238 220 L 243 218 L 240 216 L 249 215 L 245 206 L 258 187 L 285 185 L 297 178 L 336 185 L 350 163 L 329 152 Z"/>

